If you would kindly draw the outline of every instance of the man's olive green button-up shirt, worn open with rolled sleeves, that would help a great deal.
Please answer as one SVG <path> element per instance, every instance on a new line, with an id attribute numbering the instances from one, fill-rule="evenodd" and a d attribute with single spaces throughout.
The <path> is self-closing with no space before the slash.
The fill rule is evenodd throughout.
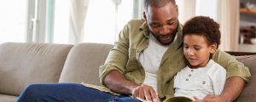
<path id="1" fill-rule="evenodd" d="M 160 62 L 157 71 L 157 93 L 159 97 L 171 97 L 174 94 L 173 77 L 177 71 L 186 66 L 183 57 L 182 26 L 178 25 L 177 40 L 170 44 Z M 119 33 L 119 41 L 108 54 L 104 65 L 100 67 L 100 78 L 103 82 L 109 71 L 117 70 L 131 82 L 142 84 L 145 71 L 139 62 L 139 54 L 148 47 L 148 26 L 144 20 L 131 20 Z M 238 62 L 230 54 L 217 51 L 212 59 L 227 70 L 227 78 L 241 77 L 249 80 L 250 72 L 246 66 Z"/>

